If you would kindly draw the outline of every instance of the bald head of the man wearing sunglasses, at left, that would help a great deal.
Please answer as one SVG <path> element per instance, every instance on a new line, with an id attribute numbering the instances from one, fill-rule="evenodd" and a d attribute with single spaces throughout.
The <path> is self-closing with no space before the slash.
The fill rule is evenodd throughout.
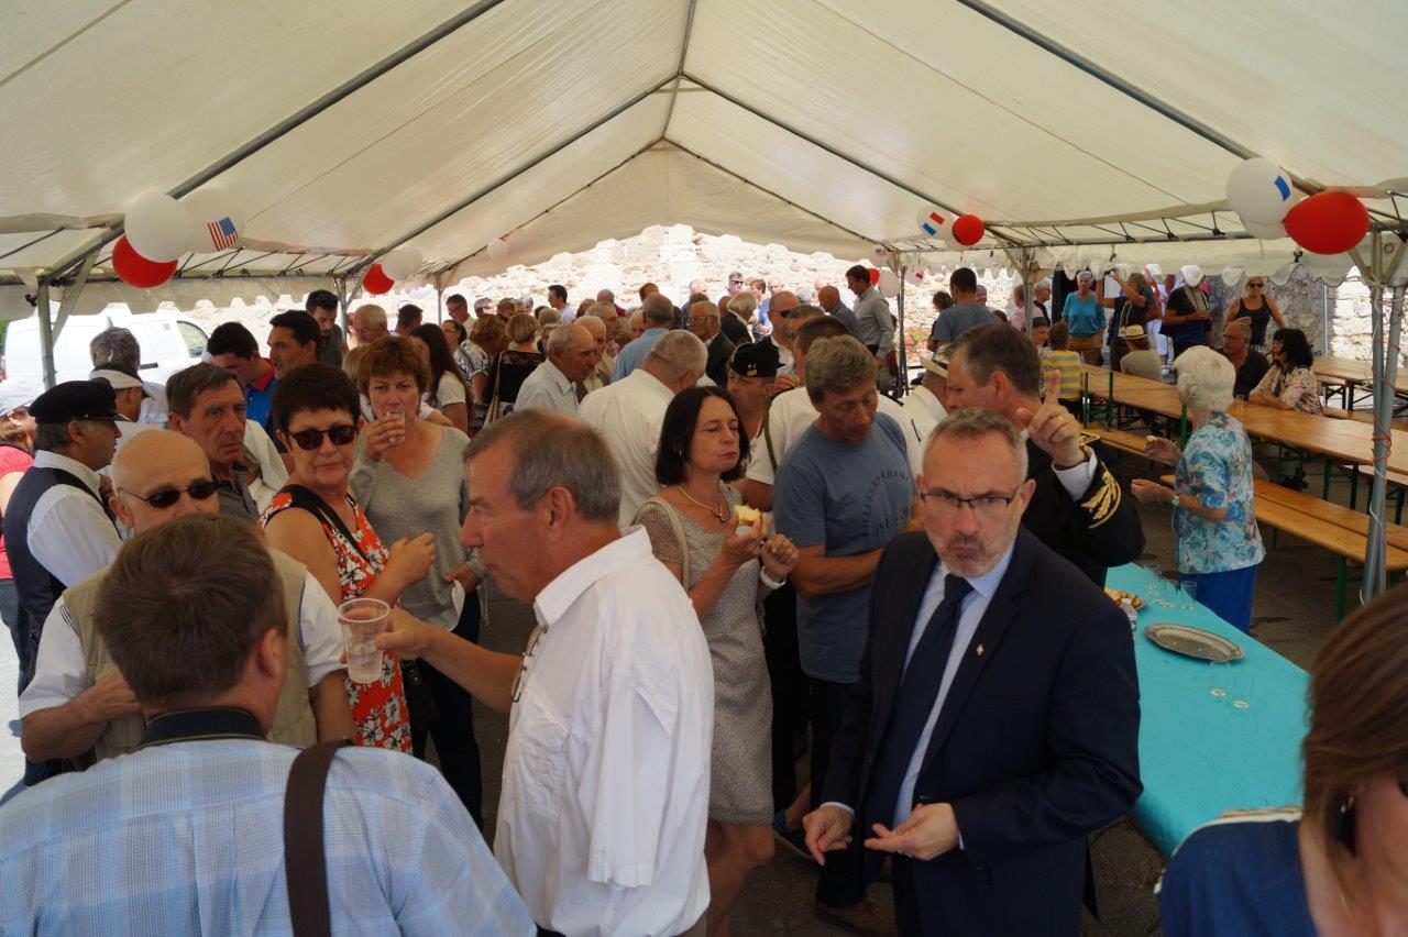
<path id="1" fill-rule="evenodd" d="M 196 440 L 168 429 L 148 429 L 122 445 L 113 459 L 111 506 L 122 523 L 138 533 L 187 514 L 217 514 L 220 499 L 196 499 L 182 494 L 175 504 L 158 508 L 153 494 L 187 491 L 193 483 L 210 481 L 210 460 Z"/>

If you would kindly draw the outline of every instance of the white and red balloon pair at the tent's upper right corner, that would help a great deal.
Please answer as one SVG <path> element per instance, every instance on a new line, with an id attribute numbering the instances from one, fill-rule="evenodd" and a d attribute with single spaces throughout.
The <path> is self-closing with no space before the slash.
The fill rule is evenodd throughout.
<path id="1" fill-rule="evenodd" d="M 1345 253 L 1369 234 L 1369 211 L 1359 198 L 1322 191 L 1297 201 L 1290 173 L 1264 156 L 1232 170 L 1228 204 L 1247 234 L 1263 241 L 1291 238 L 1311 253 Z"/>

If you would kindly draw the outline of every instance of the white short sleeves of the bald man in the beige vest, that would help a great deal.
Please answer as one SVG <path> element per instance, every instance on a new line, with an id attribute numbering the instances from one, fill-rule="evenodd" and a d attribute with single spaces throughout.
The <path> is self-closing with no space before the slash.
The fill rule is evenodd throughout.
<path id="1" fill-rule="evenodd" d="M 346 667 L 342 663 L 338 609 L 311 573 L 306 574 L 303 601 L 298 604 L 298 646 L 303 649 L 308 687 Z M 34 658 L 34 680 L 20 694 L 20 718 L 72 702 L 92 685 L 93 674 L 87 673 L 83 644 L 69 619 L 68 605 L 59 597 L 44 620 L 39 653 Z"/>

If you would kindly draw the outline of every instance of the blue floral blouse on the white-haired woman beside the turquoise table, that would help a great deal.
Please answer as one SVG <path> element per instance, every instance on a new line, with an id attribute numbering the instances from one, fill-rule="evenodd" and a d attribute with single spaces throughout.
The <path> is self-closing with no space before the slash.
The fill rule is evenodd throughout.
<path id="1" fill-rule="evenodd" d="M 1221 522 L 1173 512 L 1180 573 L 1231 573 L 1262 561 L 1266 549 L 1252 509 L 1252 442 L 1242 423 L 1225 412 L 1208 416 L 1188 438 L 1173 487 L 1228 512 Z"/>

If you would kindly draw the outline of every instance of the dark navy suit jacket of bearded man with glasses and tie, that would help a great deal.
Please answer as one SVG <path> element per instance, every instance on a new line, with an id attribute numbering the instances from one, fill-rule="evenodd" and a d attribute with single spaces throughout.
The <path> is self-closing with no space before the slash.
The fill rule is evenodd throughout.
<path id="1" fill-rule="evenodd" d="M 866 801 L 936 563 L 922 532 L 895 537 L 880 557 L 870 637 L 822 802 Z M 912 864 L 924 933 L 1074 934 L 1086 836 L 1129 810 L 1142 791 L 1129 620 L 1079 570 L 1018 530 L 1007 574 L 962 653 L 914 789 L 918 802 L 952 805 L 963 837 L 962 850 Z M 857 816 L 853 827 L 866 884 L 883 858 L 863 846 L 874 822 Z"/>

